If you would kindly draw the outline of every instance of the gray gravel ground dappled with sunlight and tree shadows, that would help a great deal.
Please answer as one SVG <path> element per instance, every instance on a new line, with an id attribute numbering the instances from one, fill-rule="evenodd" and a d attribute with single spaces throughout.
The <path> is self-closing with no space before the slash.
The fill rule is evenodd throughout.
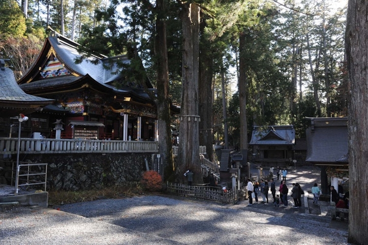
<path id="1" fill-rule="evenodd" d="M 309 188 L 305 169 L 289 180 Z M 302 186 L 303 186 L 302 185 Z M 310 186 L 311 187 L 311 186 Z M 246 206 L 164 195 L 0 212 L 1 245 L 346 245 L 347 224 L 292 207 Z M 60 209 L 57 210 L 57 209 Z M 337 223 L 335 223 L 337 224 Z M 342 224 L 342 226 L 341 226 Z"/>

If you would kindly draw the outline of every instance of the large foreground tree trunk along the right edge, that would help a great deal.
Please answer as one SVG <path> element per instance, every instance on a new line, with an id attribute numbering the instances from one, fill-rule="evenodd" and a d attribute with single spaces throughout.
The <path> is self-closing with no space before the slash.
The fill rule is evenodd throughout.
<path id="1" fill-rule="evenodd" d="M 349 0 L 346 54 L 350 82 L 349 236 L 348 243 L 368 241 L 368 1 Z"/>

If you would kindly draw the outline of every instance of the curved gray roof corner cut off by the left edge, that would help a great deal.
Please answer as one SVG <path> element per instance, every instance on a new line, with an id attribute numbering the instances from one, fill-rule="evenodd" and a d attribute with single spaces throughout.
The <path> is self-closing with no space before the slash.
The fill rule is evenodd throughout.
<path id="1" fill-rule="evenodd" d="M 2 102 L 46 102 L 53 99 L 42 98 L 25 93 L 15 81 L 14 73 L 10 68 L 0 67 L 0 100 Z"/>

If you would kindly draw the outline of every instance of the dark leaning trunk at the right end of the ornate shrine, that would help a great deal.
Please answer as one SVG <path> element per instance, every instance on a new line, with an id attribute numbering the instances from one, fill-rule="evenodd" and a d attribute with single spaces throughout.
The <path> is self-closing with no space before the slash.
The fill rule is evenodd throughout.
<path id="1" fill-rule="evenodd" d="M 158 150 L 163 163 L 163 176 L 168 179 L 173 170 L 172 142 L 170 128 L 169 68 L 167 61 L 166 23 L 164 0 L 156 1 L 155 55 L 157 71 L 157 115 Z"/>

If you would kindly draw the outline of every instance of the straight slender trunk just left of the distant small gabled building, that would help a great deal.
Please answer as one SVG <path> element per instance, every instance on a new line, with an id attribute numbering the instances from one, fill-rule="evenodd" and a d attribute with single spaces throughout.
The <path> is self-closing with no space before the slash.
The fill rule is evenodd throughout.
<path id="1" fill-rule="evenodd" d="M 248 149 L 248 134 L 246 126 L 246 64 L 242 52 L 245 49 L 245 33 L 240 33 L 239 38 L 239 108 L 240 108 L 240 149 Z"/>

